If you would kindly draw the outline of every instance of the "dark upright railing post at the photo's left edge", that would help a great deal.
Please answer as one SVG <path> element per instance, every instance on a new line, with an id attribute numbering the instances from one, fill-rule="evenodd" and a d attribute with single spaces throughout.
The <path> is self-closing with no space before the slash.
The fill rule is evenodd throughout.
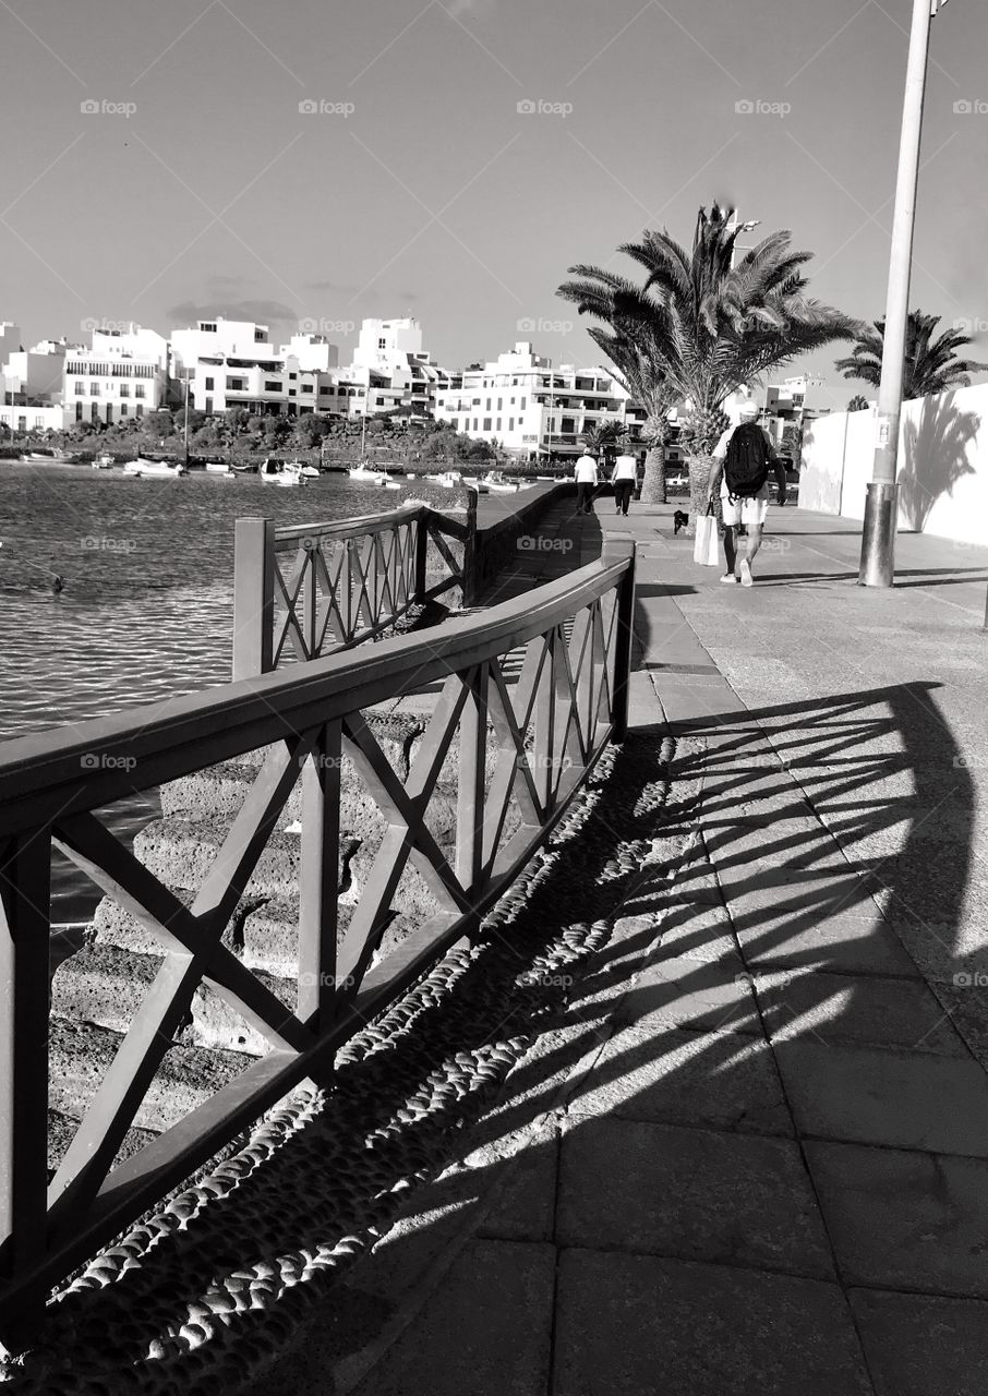
<path id="1" fill-rule="evenodd" d="M 0 1238 L 14 1287 L 46 1252 L 50 866 L 46 829 L 0 843 Z M 4 1346 L 10 1325 L 22 1337 L 43 1307 L 43 1290 L 21 1291 Z"/>

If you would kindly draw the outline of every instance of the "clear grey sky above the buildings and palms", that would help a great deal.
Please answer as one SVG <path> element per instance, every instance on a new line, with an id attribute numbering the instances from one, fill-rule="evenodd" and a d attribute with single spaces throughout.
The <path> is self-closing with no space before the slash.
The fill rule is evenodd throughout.
<path id="1" fill-rule="evenodd" d="M 416 315 L 449 367 L 600 353 L 557 286 L 701 205 L 885 309 L 911 0 L 10 0 L 0 320 Z M 932 24 L 911 304 L 988 357 L 988 7 Z M 834 406 L 836 346 L 797 367 Z M 794 370 L 787 370 L 794 371 Z"/>

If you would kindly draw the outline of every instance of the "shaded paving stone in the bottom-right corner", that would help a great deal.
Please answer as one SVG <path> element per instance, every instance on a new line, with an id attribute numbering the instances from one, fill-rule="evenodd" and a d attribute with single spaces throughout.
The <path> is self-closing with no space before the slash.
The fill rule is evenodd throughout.
<path id="1" fill-rule="evenodd" d="M 851 1290 L 876 1396 L 984 1396 L 988 1304 Z"/>

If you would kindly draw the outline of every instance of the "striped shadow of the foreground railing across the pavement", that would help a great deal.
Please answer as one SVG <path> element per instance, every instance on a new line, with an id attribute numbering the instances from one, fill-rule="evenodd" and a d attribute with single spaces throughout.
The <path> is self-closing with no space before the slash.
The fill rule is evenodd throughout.
<path id="1" fill-rule="evenodd" d="M 441 1249 L 497 1188 L 507 1189 L 508 1203 L 516 1196 L 511 1191 L 516 1164 L 497 1146 L 543 1121 L 546 1111 L 567 1110 L 574 1125 L 585 1114 L 607 1111 L 695 1124 L 699 1092 L 708 1128 L 791 1135 L 763 1044 L 763 1069 L 752 1083 L 761 1033 L 755 1000 L 742 995 L 714 1019 L 703 1011 L 678 1013 L 677 1001 L 706 983 L 717 951 L 712 941 L 724 934 L 734 953 L 741 946 L 748 967 L 770 967 L 776 958 L 818 976 L 843 976 L 844 995 L 833 1004 L 826 1029 L 839 1039 L 841 1018 L 854 1011 L 855 980 L 847 974 L 846 952 L 851 946 L 857 953 L 861 940 L 886 934 L 879 905 L 935 987 L 949 986 L 959 969 L 988 967 L 988 951 L 966 948 L 959 935 L 974 786 L 935 692 L 934 684 L 889 685 L 678 723 L 682 754 L 668 771 L 671 797 L 661 812 L 656 790 L 666 732 L 636 729 L 606 779 L 592 787 L 579 831 L 553 850 L 547 875 L 530 889 L 525 909 L 495 930 L 465 969 L 452 1000 L 419 1012 L 407 1050 L 371 1051 L 340 1069 L 322 1111 L 226 1199 L 211 1201 L 183 1230 L 162 1235 L 154 1265 L 124 1273 L 110 1290 L 64 1300 L 54 1311 L 49 1343 L 57 1346 L 60 1329 L 66 1339 L 85 1343 L 87 1335 L 105 1332 L 107 1319 L 113 1323 L 119 1315 L 116 1360 L 140 1372 L 149 1361 L 148 1342 L 165 1323 L 177 1332 L 181 1322 L 191 1322 L 187 1304 L 205 1286 L 275 1255 L 297 1254 L 310 1258 L 301 1283 L 272 1294 L 262 1308 L 244 1305 L 223 1322 L 251 1350 L 280 1354 L 258 1392 L 269 1390 L 275 1378 L 292 1389 L 317 1374 L 320 1389 L 329 1390 L 328 1364 L 399 1321 L 402 1302 L 419 1283 L 423 1245 Z M 692 741 L 706 751 L 688 750 Z M 705 787 L 696 796 L 699 775 Z M 929 824 L 943 824 L 948 804 L 955 831 L 945 854 L 949 866 L 931 877 Z M 710 864 L 688 852 L 701 817 L 716 879 Z M 617 871 L 615 831 L 621 847 L 632 850 Z M 861 850 L 854 864 L 829 831 L 837 843 Z M 661 856 L 642 867 L 634 850 L 657 835 Z M 761 902 L 766 867 L 784 877 L 798 872 L 798 892 Z M 723 888 L 734 920 L 720 933 L 712 931 L 709 912 L 723 909 Z M 625 933 L 592 962 L 587 958 L 589 972 L 574 984 L 537 983 L 536 991 L 519 993 L 519 980 L 527 983 L 526 976 L 544 963 L 560 930 L 618 916 L 636 920 L 625 923 Z M 614 1027 L 610 1018 L 629 966 L 653 948 L 659 917 L 661 952 L 677 956 L 680 974 L 634 990 Z M 833 917 L 846 917 L 847 937 L 837 926 L 836 934 L 821 940 L 821 923 Z M 698 958 L 691 963 L 689 956 Z M 518 1039 L 530 1048 L 504 1093 L 458 1081 L 455 1072 L 445 1078 L 449 1090 L 435 1087 L 456 1054 L 483 1058 Z M 581 1064 L 590 1074 L 574 1086 L 569 1078 Z M 424 1082 L 433 1083 L 431 1094 L 421 1094 Z M 567 1083 L 568 1099 L 561 1096 Z M 426 1108 L 419 1108 L 426 1097 Z M 544 1122 L 525 1148 L 529 1173 L 543 1161 L 554 1166 L 557 1124 Z M 402 1205 L 406 1195 L 395 1189 L 403 1181 L 435 1178 L 467 1153 L 474 1167 L 431 1181 L 417 1208 Z M 328 1174 L 346 1180 L 336 1192 L 322 1187 Z M 347 1249 L 373 1241 L 402 1216 L 405 1224 L 382 1248 L 381 1263 L 371 1258 L 347 1280 Z M 480 1234 L 507 1234 L 509 1220 L 495 1206 Z M 253 1234 L 248 1245 L 246 1230 Z M 357 1241 L 347 1247 L 347 1237 Z M 349 1323 L 347 1315 L 359 1315 L 359 1323 Z M 455 1342 L 449 1346 L 455 1349 Z M 187 1382 L 186 1389 L 205 1389 L 197 1385 L 201 1368 L 181 1342 L 155 1353 L 155 1360 Z"/>

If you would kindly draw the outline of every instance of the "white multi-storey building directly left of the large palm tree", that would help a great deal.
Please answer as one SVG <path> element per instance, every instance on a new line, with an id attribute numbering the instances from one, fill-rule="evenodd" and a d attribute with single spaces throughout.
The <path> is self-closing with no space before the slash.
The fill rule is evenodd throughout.
<path id="1" fill-rule="evenodd" d="M 553 369 L 527 341 L 483 369 L 466 369 L 458 388 L 435 395 L 434 415 L 515 455 L 579 455 L 582 433 L 617 422 L 636 437 L 645 412 L 607 369 Z"/>

